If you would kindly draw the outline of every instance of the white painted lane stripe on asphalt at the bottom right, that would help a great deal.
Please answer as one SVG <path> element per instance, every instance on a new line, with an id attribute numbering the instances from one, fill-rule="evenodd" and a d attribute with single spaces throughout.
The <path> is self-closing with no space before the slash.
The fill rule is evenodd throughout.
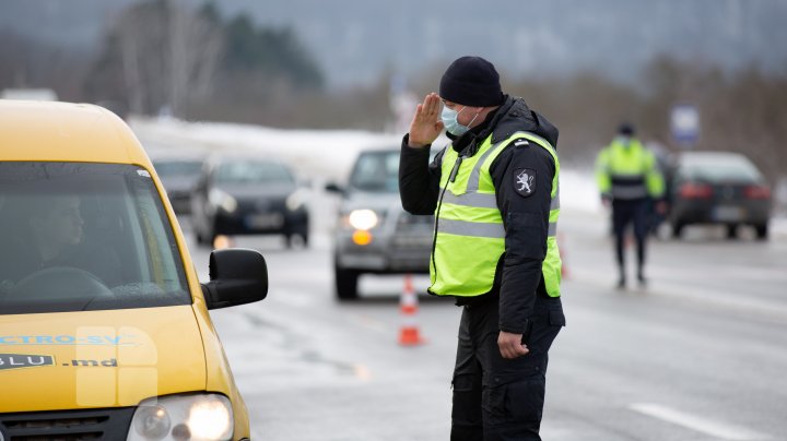
<path id="1" fill-rule="evenodd" d="M 740 426 L 714 421 L 654 403 L 634 403 L 629 408 L 673 425 L 716 437 L 720 440 L 755 441 L 771 440 L 772 437 Z"/>

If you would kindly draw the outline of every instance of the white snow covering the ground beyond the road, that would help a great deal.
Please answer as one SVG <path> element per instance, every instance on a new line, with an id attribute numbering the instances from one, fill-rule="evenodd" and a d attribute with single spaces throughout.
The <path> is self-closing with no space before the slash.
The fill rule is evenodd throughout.
<path id="1" fill-rule="evenodd" d="M 357 153 L 365 148 L 398 148 L 401 133 L 360 130 L 282 130 L 259 126 L 186 122 L 176 119 L 132 119 L 131 128 L 153 156 L 166 151 L 250 151 L 293 165 L 302 178 L 319 184 L 343 182 Z M 435 145 L 443 145 L 445 139 Z M 561 170 L 561 207 L 589 213 L 602 208 L 590 169 Z M 772 219 L 774 236 L 787 237 L 787 217 Z"/>

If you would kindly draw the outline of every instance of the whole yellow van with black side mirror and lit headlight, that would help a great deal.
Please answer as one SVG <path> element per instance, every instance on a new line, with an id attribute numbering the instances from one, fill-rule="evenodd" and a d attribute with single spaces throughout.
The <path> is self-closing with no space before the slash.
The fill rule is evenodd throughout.
<path id="1" fill-rule="evenodd" d="M 200 284 L 126 123 L 0 99 L 0 440 L 248 440 L 210 309 L 266 297 L 262 255 Z"/>

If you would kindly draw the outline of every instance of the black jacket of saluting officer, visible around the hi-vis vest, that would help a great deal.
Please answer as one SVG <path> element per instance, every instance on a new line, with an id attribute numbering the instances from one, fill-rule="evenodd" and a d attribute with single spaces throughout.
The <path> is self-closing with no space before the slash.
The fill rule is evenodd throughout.
<path id="1" fill-rule="evenodd" d="M 557 147 L 557 129 L 543 116 L 530 110 L 524 99 L 510 96 L 506 96 L 504 104 L 480 126 L 462 136 L 448 136 L 453 140 L 453 148 L 469 157 L 478 152 L 480 144 L 490 134 L 494 144 L 517 131 L 535 133 Z M 494 286 L 490 293 L 480 297 L 457 297 L 457 305 L 467 305 L 500 296 L 500 327 L 517 334 L 526 330 L 536 296 L 547 296 L 541 264 L 547 257 L 552 178 L 555 174 L 554 160 L 547 150 L 535 143 L 521 144 L 504 150 L 490 167 L 497 207 L 506 231 L 505 253 L 497 263 Z M 399 193 L 406 211 L 412 214 L 434 214 L 441 193 L 444 153 L 445 148 L 430 164 L 430 148 L 408 146 L 408 135 L 404 135 L 399 166 Z M 533 191 L 526 195 L 517 191 L 517 175 L 525 168 L 536 176 Z"/>

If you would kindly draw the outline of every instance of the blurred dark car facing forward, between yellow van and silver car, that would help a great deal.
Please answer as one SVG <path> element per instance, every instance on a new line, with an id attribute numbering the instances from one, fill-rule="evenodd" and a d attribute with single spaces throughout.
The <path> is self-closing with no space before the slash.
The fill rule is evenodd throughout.
<path id="1" fill-rule="evenodd" d="M 212 245 L 219 235 L 283 235 L 309 239 L 306 189 L 285 163 L 228 154 L 202 167 L 191 196 L 191 219 L 198 243 Z"/>

